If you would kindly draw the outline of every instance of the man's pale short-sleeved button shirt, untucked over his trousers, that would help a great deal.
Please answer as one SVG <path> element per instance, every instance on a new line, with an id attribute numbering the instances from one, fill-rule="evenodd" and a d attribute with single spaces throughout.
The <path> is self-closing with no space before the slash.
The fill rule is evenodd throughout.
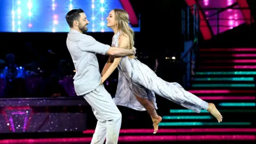
<path id="1" fill-rule="evenodd" d="M 101 82 L 96 53 L 105 55 L 110 46 L 96 41 L 92 36 L 70 30 L 67 47 L 76 70 L 73 78 L 76 94 L 83 95 L 95 90 Z"/>

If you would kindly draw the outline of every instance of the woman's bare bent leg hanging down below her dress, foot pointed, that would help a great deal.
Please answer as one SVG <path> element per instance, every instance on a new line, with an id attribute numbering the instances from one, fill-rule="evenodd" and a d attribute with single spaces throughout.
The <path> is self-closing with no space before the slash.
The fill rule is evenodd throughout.
<path id="1" fill-rule="evenodd" d="M 138 95 L 135 95 L 135 97 L 141 103 L 141 105 L 145 107 L 145 109 L 148 111 L 148 114 L 150 115 L 153 121 L 154 133 L 156 133 L 158 130 L 158 124 L 162 121 L 162 117 L 157 115 L 153 102 L 149 101 L 148 99 L 140 98 Z"/>

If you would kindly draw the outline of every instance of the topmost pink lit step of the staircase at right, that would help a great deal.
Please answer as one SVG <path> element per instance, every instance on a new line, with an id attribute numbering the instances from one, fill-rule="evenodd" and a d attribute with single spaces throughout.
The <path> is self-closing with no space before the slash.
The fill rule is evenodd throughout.
<path id="1" fill-rule="evenodd" d="M 256 48 L 218 48 L 218 49 L 199 49 L 201 52 L 248 52 L 248 51 L 256 51 Z"/>

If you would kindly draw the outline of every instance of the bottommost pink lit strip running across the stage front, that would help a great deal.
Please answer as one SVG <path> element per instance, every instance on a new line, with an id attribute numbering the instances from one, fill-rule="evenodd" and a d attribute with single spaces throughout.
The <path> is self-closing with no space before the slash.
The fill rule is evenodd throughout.
<path id="1" fill-rule="evenodd" d="M 142 135 L 122 136 L 119 142 L 139 141 L 219 141 L 219 140 L 256 140 L 255 135 Z M 53 142 L 90 142 L 91 138 L 58 138 L 58 139 L 9 139 L 0 143 L 53 143 Z"/>

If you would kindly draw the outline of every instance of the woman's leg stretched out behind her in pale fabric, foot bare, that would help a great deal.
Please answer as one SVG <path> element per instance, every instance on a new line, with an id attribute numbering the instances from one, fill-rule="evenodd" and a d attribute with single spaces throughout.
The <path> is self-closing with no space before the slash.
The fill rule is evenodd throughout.
<path id="1" fill-rule="evenodd" d="M 188 109 L 194 110 L 196 113 L 200 113 L 201 109 L 208 110 L 219 123 L 222 122 L 222 115 L 213 103 L 208 103 L 198 98 L 193 93 L 183 89 L 183 87 L 178 83 L 166 82 L 155 74 L 135 75 L 133 76 L 133 82 L 145 87 L 150 91 L 153 91 L 163 98 L 178 103 L 179 105 Z"/>

